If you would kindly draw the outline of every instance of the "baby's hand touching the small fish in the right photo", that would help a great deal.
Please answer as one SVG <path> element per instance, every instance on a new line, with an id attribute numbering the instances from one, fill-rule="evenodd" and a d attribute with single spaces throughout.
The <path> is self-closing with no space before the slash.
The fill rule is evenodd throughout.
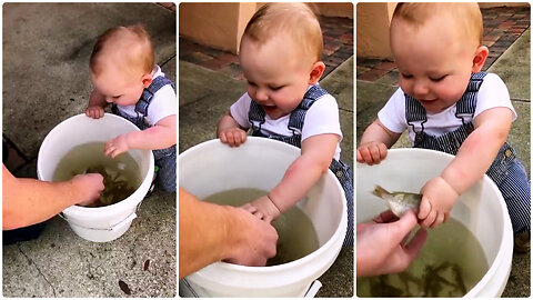
<path id="1" fill-rule="evenodd" d="M 459 193 L 442 178 L 435 177 L 422 188 L 419 219 L 423 228 L 438 228 L 450 217 Z"/>

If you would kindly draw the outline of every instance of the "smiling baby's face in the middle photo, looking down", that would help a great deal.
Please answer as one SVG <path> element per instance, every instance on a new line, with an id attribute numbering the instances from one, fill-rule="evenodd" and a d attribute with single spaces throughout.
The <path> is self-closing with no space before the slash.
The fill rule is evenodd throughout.
<path id="1" fill-rule="evenodd" d="M 239 53 L 247 91 L 272 119 L 291 113 L 302 101 L 314 61 L 283 34 L 259 47 L 244 37 Z"/>

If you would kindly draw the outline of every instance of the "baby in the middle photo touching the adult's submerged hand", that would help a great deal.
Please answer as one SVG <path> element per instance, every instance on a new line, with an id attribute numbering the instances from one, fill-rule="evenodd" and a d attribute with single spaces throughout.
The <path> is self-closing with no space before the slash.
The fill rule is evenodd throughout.
<path id="1" fill-rule="evenodd" d="M 248 80 L 244 93 L 224 114 L 218 137 L 237 147 L 251 128 L 255 137 L 301 148 L 301 156 L 268 196 L 244 208 L 270 222 L 294 206 L 330 168 L 341 182 L 349 208 L 345 246 L 353 246 L 353 181 L 340 161 L 342 132 L 335 99 L 318 84 L 325 66 L 322 31 L 304 3 L 271 3 L 248 23 L 239 59 Z"/>

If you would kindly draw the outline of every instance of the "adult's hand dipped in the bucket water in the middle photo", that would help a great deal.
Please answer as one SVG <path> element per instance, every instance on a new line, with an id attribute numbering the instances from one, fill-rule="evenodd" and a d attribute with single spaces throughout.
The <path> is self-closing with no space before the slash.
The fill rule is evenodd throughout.
<path id="1" fill-rule="evenodd" d="M 275 256 L 278 232 L 265 222 L 242 208 L 233 209 L 233 218 L 238 223 L 237 230 L 232 231 L 228 239 L 234 239 L 230 254 L 224 261 L 263 267 L 266 260 Z"/>

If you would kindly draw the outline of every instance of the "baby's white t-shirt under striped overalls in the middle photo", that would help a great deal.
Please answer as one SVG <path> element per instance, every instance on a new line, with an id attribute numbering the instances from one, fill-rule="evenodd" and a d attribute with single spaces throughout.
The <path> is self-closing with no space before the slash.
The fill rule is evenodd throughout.
<path id="1" fill-rule="evenodd" d="M 248 112 L 250 111 L 251 102 L 252 98 L 250 98 L 247 92 L 230 107 L 231 116 L 242 128 L 250 128 Z M 273 120 L 269 114 L 265 114 L 264 123 L 261 124 L 261 132 L 266 136 L 275 133 L 279 136 L 291 137 L 292 131 L 288 127 L 290 118 L 291 114 L 288 114 Z M 302 142 L 309 137 L 323 133 L 334 133 L 340 136 L 335 154 L 333 156 L 334 159 L 339 160 L 341 157 L 340 142 L 342 140 L 341 124 L 339 123 L 339 106 L 336 104 L 335 98 L 329 93 L 319 98 L 305 113 L 302 127 Z"/>

